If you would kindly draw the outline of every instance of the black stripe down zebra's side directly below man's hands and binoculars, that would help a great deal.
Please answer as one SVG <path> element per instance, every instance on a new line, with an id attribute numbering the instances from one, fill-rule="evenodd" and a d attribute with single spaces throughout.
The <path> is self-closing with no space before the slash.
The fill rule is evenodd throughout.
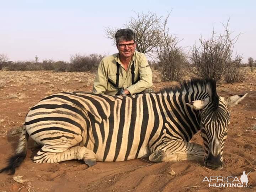
<path id="1" fill-rule="evenodd" d="M 120 107 L 120 113 L 119 113 L 120 122 L 119 122 L 118 133 L 117 133 L 116 151 L 115 151 L 113 161 L 116 161 L 116 159 L 119 155 L 120 149 L 121 149 L 121 144 L 122 144 L 122 139 L 123 139 L 124 121 L 126 118 L 126 116 L 125 116 L 126 107 L 125 106 L 126 106 L 126 97 L 123 97 L 121 107 Z M 133 120 L 131 119 L 131 121 L 133 121 Z"/>

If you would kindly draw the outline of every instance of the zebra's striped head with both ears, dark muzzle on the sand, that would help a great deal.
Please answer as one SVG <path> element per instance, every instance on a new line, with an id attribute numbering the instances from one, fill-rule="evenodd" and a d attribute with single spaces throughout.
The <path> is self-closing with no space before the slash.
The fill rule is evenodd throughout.
<path id="1" fill-rule="evenodd" d="M 222 154 L 230 123 L 228 108 L 238 104 L 246 95 L 234 95 L 224 98 L 218 96 L 215 91 L 215 93 L 203 100 L 187 103 L 194 110 L 198 110 L 201 116 L 201 135 L 205 147 L 204 165 L 207 167 L 214 170 L 223 168 Z"/>

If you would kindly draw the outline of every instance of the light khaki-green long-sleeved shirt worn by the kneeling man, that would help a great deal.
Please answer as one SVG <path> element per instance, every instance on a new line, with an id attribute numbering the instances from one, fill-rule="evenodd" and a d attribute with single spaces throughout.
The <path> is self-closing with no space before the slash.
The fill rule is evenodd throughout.
<path id="1" fill-rule="evenodd" d="M 144 91 L 150 88 L 152 83 L 152 71 L 148 64 L 148 60 L 143 53 L 135 51 L 132 59 L 128 65 L 127 71 L 124 69 L 119 59 L 119 54 L 113 54 L 101 60 L 97 75 L 94 80 L 92 92 L 99 94 L 116 95 L 118 89 L 114 87 L 108 79 L 116 84 L 117 62 L 120 64 L 119 69 L 119 85 L 118 88 L 123 87 L 127 89 L 131 95 Z M 134 62 L 134 81 L 140 80 L 132 85 L 131 66 Z"/>

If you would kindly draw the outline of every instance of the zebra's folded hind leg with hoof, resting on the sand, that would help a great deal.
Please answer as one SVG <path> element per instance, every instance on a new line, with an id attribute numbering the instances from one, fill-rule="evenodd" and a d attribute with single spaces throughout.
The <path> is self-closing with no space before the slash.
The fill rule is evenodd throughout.
<path id="1" fill-rule="evenodd" d="M 34 156 L 33 162 L 36 163 L 54 163 L 68 160 L 84 160 L 85 164 L 92 166 L 96 164 L 96 154 L 85 146 L 73 146 L 63 148 L 62 144 L 45 144 Z"/>

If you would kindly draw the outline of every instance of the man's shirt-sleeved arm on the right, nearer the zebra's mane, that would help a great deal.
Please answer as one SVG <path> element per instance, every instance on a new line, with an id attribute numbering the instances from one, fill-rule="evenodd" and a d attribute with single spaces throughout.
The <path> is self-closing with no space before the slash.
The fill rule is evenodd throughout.
<path id="1" fill-rule="evenodd" d="M 130 92 L 131 95 L 142 92 L 145 89 L 152 87 L 153 85 L 152 71 L 145 55 L 143 55 L 139 60 L 138 67 L 140 80 L 134 85 L 127 87 L 127 90 Z"/>

